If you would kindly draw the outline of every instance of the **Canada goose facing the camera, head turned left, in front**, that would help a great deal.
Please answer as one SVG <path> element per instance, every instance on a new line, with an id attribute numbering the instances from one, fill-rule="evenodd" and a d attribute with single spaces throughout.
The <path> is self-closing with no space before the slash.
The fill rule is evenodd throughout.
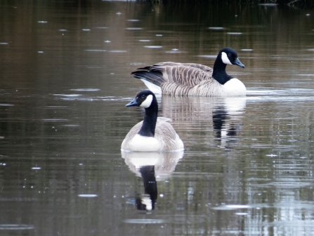
<path id="1" fill-rule="evenodd" d="M 142 90 L 129 103 L 129 106 L 145 108 L 144 120 L 137 123 L 122 142 L 122 151 L 180 151 L 184 145 L 174 128 L 167 123 L 168 118 L 159 117 L 155 94 Z"/>

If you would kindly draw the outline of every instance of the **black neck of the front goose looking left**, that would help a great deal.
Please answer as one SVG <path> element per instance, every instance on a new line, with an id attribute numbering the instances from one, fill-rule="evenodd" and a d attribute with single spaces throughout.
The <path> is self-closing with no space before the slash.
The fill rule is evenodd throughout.
<path id="1" fill-rule="evenodd" d="M 152 104 L 149 108 L 145 108 L 145 116 L 142 128 L 138 131 L 138 135 L 145 137 L 155 137 L 155 128 L 157 123 L 158 104 L 157 100 L 152 99 Z"/>

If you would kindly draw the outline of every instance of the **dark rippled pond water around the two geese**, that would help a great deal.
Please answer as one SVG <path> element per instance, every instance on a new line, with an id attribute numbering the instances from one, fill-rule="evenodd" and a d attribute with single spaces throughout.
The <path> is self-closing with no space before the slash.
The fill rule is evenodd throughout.
<path id="1" fill-rule="evenodd" d="M 314 235 L 314 10 L 0 2 L 0 235 Z M 244 98 L 159 96 L 184 153 L 122 154 L 129 74 L 212 66 Z"/>

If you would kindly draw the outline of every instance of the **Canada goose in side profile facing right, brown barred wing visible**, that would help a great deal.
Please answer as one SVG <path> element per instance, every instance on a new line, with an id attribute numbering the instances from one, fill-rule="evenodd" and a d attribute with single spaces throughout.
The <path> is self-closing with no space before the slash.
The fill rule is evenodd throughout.
<path id="1" fill-rule="evenodd" d="M 225 73 L 225 66 L 244 68 L 234 49 L 219 51 L 214 69 L 195 63 L 161 62 L 138 68 L 131 75 L 142 80 L 155 94 L 207 97 L 245 96 L 243 83 Z"/>

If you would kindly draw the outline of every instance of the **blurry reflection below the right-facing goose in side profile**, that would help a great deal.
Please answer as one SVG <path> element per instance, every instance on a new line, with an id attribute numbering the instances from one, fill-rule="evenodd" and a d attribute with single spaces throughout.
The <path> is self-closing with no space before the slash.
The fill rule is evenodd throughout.
<path id="1" fill-rule="evenodd" d="M 193 129 L 206 132 L 218 146 L 232 148 L 242 128 L 245 97 L 162 97 L 162 116 L 171 117 L 182 138 L 191 137 Z M 212 126 L 211 126 L 212 123 Z M 182 135 L 185 131 L 185 137 Z"/>

